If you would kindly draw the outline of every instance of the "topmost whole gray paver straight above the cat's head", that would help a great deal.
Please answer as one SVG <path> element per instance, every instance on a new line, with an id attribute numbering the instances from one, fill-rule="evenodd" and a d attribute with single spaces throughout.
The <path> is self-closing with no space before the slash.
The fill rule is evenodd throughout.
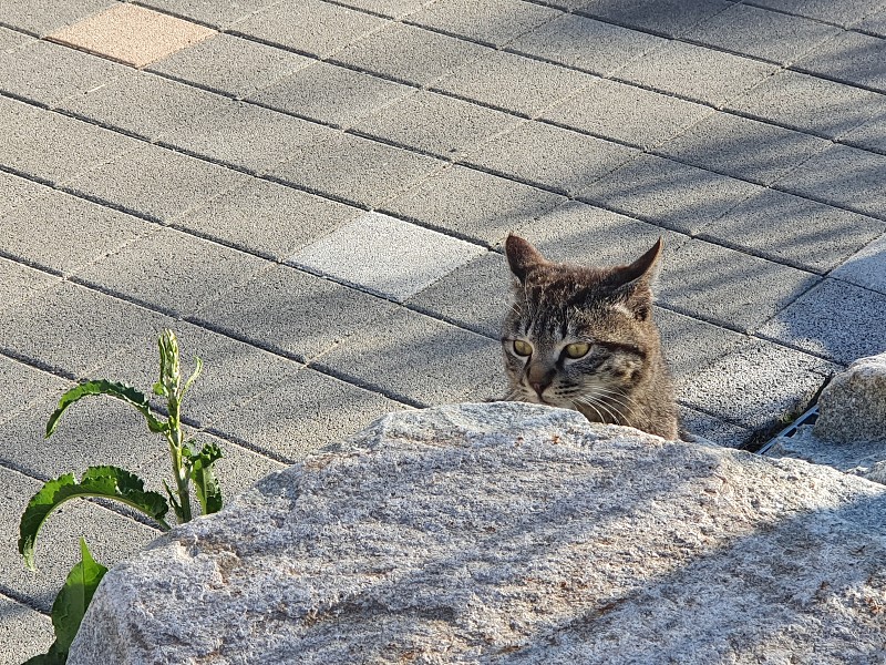
<path id="1" fill-rule="evenodd" d="M 609 76 L 664 43 L 645 32 L 564 14 L 509 43 L 508 49 Z"/>

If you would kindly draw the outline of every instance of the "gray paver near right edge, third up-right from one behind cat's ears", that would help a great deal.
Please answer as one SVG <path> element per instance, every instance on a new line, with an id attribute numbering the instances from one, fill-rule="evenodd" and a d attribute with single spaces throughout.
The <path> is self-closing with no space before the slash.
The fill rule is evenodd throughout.
<path id="1" fill-rule="evenodd" d="M 836 139 L 877 113 L 886 113 L 886 98 L 836 81 L 783 70 L 733 99 L 727 109 Z"/>

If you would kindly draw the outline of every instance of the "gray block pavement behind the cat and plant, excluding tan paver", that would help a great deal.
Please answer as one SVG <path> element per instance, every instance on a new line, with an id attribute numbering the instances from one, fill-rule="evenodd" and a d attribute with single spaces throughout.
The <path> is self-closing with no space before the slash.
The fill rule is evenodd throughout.
<path id="1" fill-rule="evenodd" d="M 141 70 L 44 39 L 112 8 L 218 33 Z M 51 474 L 163 472 L 119 406 L 40 431 L 79 379 L 147 390 L 164 327 L 206 359 L 185 415 L 226 450 L 228 492 L 388 411 L 495 396 L 509 232 L 586 263 L 662 235 L 684 423 L 764 440 L 886 349 L 884 17 L 884 0 L 3 2 L 3 538 Z M 130 550 L 102 525 L 126 546 L 153 534 L 94 504 L 55 520 L 48 574 L 0 554 L 2 664 L 51 641 L 29 626 L 82 531 L 106 563 Z"/>

